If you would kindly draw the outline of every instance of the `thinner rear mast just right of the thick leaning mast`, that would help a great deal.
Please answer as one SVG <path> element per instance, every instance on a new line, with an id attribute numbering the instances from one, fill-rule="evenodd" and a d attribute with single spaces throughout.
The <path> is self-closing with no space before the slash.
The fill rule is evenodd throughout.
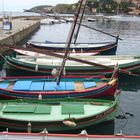
<path id="1" fill-rule="evenodd" d="M 85 9 L 86 9 L 86 5 L 87 5 L 87 0 L 84 1 L 84 7 L 83 7 L 83 11 L 81 13 L 81 17 L 80 17 L 80 20 L 79 20 L 79 23 L 78 23 L 78 27 L 77 27 L 77 31 L 76 31 L 76 34 L 74 36 L 74 44 L 76 43 L 77 41 L 77 38 L 78 38 L 78 35 L 79 35 L 79 30 L 80 30 L 80 27 L 81 27 L 81 23 L 82 23 L 82 20 L 83 20 L 83 16 L 84 16 L 84 13 L 85 13 Z"/>

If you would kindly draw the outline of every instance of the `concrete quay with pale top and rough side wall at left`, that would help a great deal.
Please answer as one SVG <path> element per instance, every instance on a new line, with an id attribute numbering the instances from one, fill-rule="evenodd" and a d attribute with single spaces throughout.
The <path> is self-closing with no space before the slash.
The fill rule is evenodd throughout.
<path id="1" fill-rule="evenodd" d="M 39 26 L 39 20 L 20 18 L 12 20 L 12 30 L 3 30 L 2 21 L 0 21 L 0 44 L 17 44 L 37 30 Z"/>

